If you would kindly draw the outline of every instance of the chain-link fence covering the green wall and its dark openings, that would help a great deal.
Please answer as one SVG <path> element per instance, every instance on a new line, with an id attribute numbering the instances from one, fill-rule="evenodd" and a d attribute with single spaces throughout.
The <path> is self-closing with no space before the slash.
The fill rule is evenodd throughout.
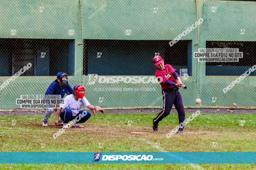
<path id="1" fill-rule="evenodd" d="M 255 7 L 214 0 L 4 2 L 0 108 L 18 108 L 22 94 L 45 94 L 58 72 L 72 87 L 83 84 L 93 105 L 162 107 L 155 55 L 188 87 L 179 90 L 184 106 L 199 106 L 200 98 L 201 107 L 254 107 L 255 72 L 237 78 L 255 65 Z M 198 48 L 238 48 L 243 58 L 198 62 Z"/>

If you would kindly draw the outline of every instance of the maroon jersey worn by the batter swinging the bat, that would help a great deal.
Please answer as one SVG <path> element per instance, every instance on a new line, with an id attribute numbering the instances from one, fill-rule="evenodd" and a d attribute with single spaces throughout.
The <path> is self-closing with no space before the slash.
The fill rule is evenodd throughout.
<path id="1" fill-rule="evenodd" d="M 164 83 L 169 80 L 174 82 L 175 84 L 177 84 L 177 81 L 175 79 L 175 77 L 172 75 L 173 72 L 175 72 L 176 70 L 169 64 L 164 65 L 164 69 L 163 70 L 159 70 L 157 69 L 156 71 L 156 77 L 162 77 L 163 81 L 160 83 L 162 89 L 167 89 L 167 88 L 173 88 L 173 86 L 169 86 L 169 85 L 164 85 Z M 158 79 L 159 81 L 160 79 Z"/>

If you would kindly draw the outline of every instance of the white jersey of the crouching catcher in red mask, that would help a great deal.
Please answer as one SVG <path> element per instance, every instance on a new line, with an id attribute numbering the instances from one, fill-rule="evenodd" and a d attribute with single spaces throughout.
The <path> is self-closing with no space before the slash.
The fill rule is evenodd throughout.
<path id="1" fill-rule="evenodd" d="M 73 94 L 67 95 L 64 98 L 64 104 L 60 105 L 62 107 L 61 111 L 64 111 L 65 109 L 71 109 L 72 110 L 72 115 L 76 116 L 78 114 L 78 112 L 80 111 L 81 106 L 83 105 L 80 102 L 80 100 L 81 100 L 81 98 L 79 98 L 76 101 Z M 83 97 L 83 100 L 84 100 L 84 103 L 85 103 L 84 107 L 87 107 L 87 106 L 90 105 L 90 103 L 88 102 L 88 100 L 85 97 Z"/>

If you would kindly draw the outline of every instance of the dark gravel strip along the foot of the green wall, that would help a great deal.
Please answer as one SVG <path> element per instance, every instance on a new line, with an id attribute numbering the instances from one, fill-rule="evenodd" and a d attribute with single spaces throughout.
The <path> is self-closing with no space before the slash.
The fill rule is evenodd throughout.
<path id="1" fill-rule="evenodd" d="M 253 109 L 234 109 L 234 112 L 230 112 L 230 109 L 185 109 L 186 113 L 195 113 L 197 110 L 201 111 L 201 114 L 252 114 L 256 113 Z M 161 109 L 108 109 L 105 110 L 105 114 L 134 114 L 134 113 L 152 113 L 158 114 Z M 92 112 L 92 111 L 91 111 Z M 54 111 L 54 114 L 56 111 Z M 176 109 L 171 109 L 171 114 L 176 114 Z M 44 111 L 0 111 L 0 116 L 23 116 L 23 115 L 44 115 Z M 98 112 L 97 114 L 102 114 Z"/>

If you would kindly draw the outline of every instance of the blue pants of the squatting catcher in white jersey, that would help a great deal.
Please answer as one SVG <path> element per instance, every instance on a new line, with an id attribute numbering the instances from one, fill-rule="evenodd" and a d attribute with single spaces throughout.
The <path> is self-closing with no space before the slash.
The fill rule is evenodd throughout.
<path id="1" fill-rule="evenodd" d="M 82 113 L 83 111 L 79 111 L 76 116 L 73 116 L 71 109 L 65 109 L 60 113 L 60 117 L 62 120 L 64 120 L 63 123 L 68 123 L 69 121 L 73 120 L 76 117 L 77 117 L 76 119 L 78 119 L 79 114 L 81 114 L 81 119 L 76 123 L 85 123 L 91 117 L 91 113 L 89 111 L 85 111 L 84 114 L 86 115 L 84 117 L 82 116 L 83 115 Z"/>

